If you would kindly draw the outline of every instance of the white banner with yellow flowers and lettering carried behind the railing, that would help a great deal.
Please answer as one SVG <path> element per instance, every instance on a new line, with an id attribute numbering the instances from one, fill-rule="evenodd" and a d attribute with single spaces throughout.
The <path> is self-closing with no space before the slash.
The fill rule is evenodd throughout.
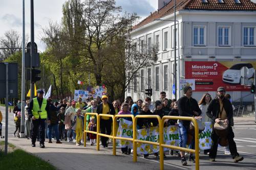
<path id="1" fill-rule="evenodd" d="M 117 131 L 117 136 L 133 138 L 133 123 L 129 120 L 120 118 L 119 128 Z M 202 150 L 210 149 L 211 146 L 211 123 L 203 123 L 205 125 L 205 130 L 199 134 L 199 148 Z M 164 142 L 165 144 L 179 146 L 179 127 L 168 126 L 164 128 Z M 137 130 L 137 139 L 146 140 L 152 142 L 159 142 L 159 127 L 151 127 L 148 129 Z M 133 148 L 132 141 L 126 140 L 116 140 L 117 145 L 120 147 Z M 164 151 L 169 150 L 164 148 Z M 140 154 L 156 153 L 159 152 L 159 147 L 152 144 L 137 143 L 137 152 Z"/>

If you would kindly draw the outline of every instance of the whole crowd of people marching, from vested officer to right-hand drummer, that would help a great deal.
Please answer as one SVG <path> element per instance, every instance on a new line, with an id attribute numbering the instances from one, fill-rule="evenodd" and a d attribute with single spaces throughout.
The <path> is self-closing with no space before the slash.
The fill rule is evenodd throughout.
<path id="1" fill-rule="evenodd" d="M 42 98 L 44 90 L 37 90 L 37 97 L 26 101 L 25 107 L 25 136 L 27 139 L 31 138 L 32 147 L 35 147 L 36 140 L 40 143 L 40 148 L 45 148 L 45 138 L 49 139 L 49 143 L 56 140 L 56 143 L 63 141 L 74 142 L 80 145 L 83 142 L 83 126 L 86 122 L 86 128 L 90 131 L 96 131 L 97 119 L 93 115 L 85 116 L 85 113 L 98 114 L 133 114 L 136 115 L 159 115 L 161 118 L 165 115 L 171 116 L 189 116 L 195 117 L 202 122 L 212 122 L 212 124 L 223 123 L 228 126 L 227 140 L 229 147 L 226 148 L 225 154 L 231 154 L 234 162 L 243 160 L 237 152 L 236 143 L 234 142 L 233 126 L 233 106 L 230 102 L 230 95 L 225 94 L 225 89 L 219 87 L 217 95 L 213 99 L 209 93 L 205 93 L 202 99 L 197 102 L 192 98 L 192 89 L 189 86 L 183 88 L 184 95 L 176 101 L 175 99 L 167 99 L 166 93 L 160 93 L 160 99 L 152 103 L 150 97 L 144 100 L 133 101 L 131 96 L 127 96 L 123 103 L 120 100 L 115 100 L 112 103 L 108 100 L 108 96 L 103 95 L 96 100 L 86 100 L 83 102 L 81 98 L 77 101 L 63 99 L 59 102 L 53 102 L 52 99 Z M 21 102 L 18 101 L 13 109 L 14 122 L 16 129 L 13 136 L 19 137 L 20 132 L 20 111 Z M 129 120 L 129 118 L 126 118 Z M 152 118 L 139 118 L 138 129 L 158 126 L 158 121 Z M 175 125 L 179 127 L 180 147 L 186 148 L 188 140 L 188 129 L 190 122 L 187 120 L 167 120 L 164 126 Z M 112 132 L 112 119 L 110 117 L 102 116 L 100 120 L 100 132 L 110 135 Z M 90 141 L 91 145 L 96 142 L 95 134 L 88 134 L 86 139 Z M 210 161 L 215 161 L 218 149 L 220 135 L 212 129 L 211 134 L 212 145 L 210 150 L 205 150 L 204 154 L 209 155 Z M 101 137 L 101 145 L 103 148 L 108 148 L 111 141 L 109 138 Z M 195 140 L 189 142 L 189 148 L 195 149 Z M 229 150 L 230 149 L 230 152 Z M 131 154 L 130 148 L 122 148 L 123 154 Z M 175 151 L 181 157 L 182 165 L 186 165 L 186 158 L 184 152 Z M 173 154 L 173 151 L 170 151 Z M 149 155 L 145 154 L 144 158 Z M 158 153 L 154 153 L 155 157 L 159 157 Z M 164 157 L 166 157 L 164 155 Z M 195 162 L 193 154 L 189 154 L 188 160 Z"/>

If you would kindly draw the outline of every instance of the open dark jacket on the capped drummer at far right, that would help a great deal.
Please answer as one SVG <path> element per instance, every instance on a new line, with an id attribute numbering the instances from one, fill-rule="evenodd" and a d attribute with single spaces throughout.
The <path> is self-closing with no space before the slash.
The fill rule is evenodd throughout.
<path id="1" fill-rule="evenodd" d="M 223 106 L 227 114 L 227 119 L 229 120 L 229 125 L 230 125 L 230 120 L 231 117 L 233 117 L 233 108 L 232 104 L 228 99 L 223 99 Z M 218 118 L 219 114 L 221 112 L 220 109 L 220 102 L 218 98 L 215 98 L 210 101 L 209 106 L 207 108 L 206 114 L 207 116 L 211 119 L 212 123 L 215 123 L 215 119 Z"/>

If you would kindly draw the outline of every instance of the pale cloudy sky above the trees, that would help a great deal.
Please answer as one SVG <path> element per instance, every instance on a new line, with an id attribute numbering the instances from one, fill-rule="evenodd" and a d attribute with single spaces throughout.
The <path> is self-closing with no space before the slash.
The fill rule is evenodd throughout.
<path id="1" fill-rule="evenodd" d="M 0 37 L 10 29 L 16 30 L 22 35 L 22 2 L 23 0 L 1 0 L 0 5 Z M 66 0 L 37 0 L 34 1 L 34 23 L 35 42 L 38 50 L 44 51 L 45 45 L 40 42 L 42 28 L 48 26 L 49 20 L 60 21 L 62 17 L 62 4 Z M 129 13 L 136 12 L 142 18 L 148 16 L 150 12 L 157 9 L 158 0 L 116 0 L 116 4 L 121 6 L 123 11 Z M 25 23 L 26 35 L 30 36 L 30 1 L 25 0 Z M 30 39 L 29 39 L 30 41 Z"/>

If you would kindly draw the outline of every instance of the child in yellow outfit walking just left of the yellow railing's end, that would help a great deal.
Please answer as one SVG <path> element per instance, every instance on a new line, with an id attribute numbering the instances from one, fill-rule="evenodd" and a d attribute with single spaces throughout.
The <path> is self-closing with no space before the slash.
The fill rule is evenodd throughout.
<path id="1" fill-rule="evenodd" d="M 76 132 L 76 145 L 78 146 L 81 144 L 83 131 L 81 109 L 76 110 L 76 114 L 73 119 L 73 124 L 74 126 L 72 127 L 72 129 Z"/>

